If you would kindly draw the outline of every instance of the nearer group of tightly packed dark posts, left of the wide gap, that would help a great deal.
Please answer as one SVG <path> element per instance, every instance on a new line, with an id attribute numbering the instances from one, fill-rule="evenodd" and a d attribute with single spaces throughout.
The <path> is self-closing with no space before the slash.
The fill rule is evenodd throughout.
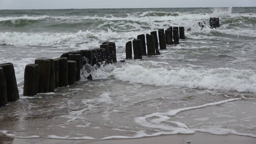
<path id="1" fill-rule="evenodd" d="M 54 92 L 56 88 L 74 84 L 80 80 L 80 70 L 85 64 L 104 66 L 114 62 L 117 62 L 114 42 L 103 42 L 100 48 L 67 52 L 56 59 L 36 59 L 25 67 L 23 96 Z M 0 64 L 0 107 L 19 98 L 13 64 Z"/>

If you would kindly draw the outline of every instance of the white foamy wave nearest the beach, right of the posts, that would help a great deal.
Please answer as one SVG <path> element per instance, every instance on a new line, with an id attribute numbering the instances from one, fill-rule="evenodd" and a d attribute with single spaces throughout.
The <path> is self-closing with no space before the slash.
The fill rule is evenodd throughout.
<path id="1" fill-rule="evenodd" d="M 253 70 L 234 68 L 168 70 L 163 67 L 148 69 L 140 65 L 126 64 L 115 68 L 112 74 L 118 80 L 152 86 L 180 86 L 256 93 L 256 73 Z"/>

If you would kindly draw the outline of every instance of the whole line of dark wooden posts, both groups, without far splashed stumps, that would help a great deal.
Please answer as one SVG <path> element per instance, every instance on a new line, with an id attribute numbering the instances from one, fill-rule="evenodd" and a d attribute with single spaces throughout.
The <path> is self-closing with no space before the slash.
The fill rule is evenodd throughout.
<path id="1" fill-rule="evenodd" d="M 147 52 L 145 35 L 138 35 L 137 39 L 126 43 L 126 59 L 132 59 L 132 45 L 134 59 L 160 55 L 158 40 L 160 49 L 166 49 L 166 44 L 179 44 L 179 33 L 180 39 L 185 39 L 184 27 L 159 29 L 158 36 L 156 31 L 146 34 Z M 66 52 L 56 59 L 36 59 L 34 64 L 25 67 L 23 96 L 54 92 L 56 88 L 74 84 L 80 80 L 81 69 L 86 64 L 104 66 L 114 62 L 117 62 L 114 42 L 103 42 L 100 48 Z M 0 107 L 19 98 L 13 64 L 0 64 Z"/>

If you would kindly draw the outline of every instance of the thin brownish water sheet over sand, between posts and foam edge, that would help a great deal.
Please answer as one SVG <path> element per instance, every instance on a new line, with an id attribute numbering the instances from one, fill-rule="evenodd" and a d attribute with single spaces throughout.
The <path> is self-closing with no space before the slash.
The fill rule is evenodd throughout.
<path id="1" fill-rule="evenodd" d="M 256 144 L 256 138 L 253 137 L 213 135 L 200 131 L 200 128 L 202 130 L 207 127 L 228 128 L 242 134 L 255 135 L 255 100 L 238 100 L 186 110 L 171 116 L 171 121 L 186 124 L 188 128 L 196 131 L 195 134 L 74 140 L 84 136 L 101 139 L 109 136 L 134 137 L 141 135 L 141 132 L 149 135 L 168 132 L 169 130 L 144 127 L 135 123 L 134 119 L 154 112 L 167 112 L 170 109 L 199 106 L 230 98 L 208 90 L 162 88 L 104 80 L 81 81 L 66 88 L 59 88 L 55 94 L 38 96 L 42 98 L 20 99 L 1 109 L 0 130 L 8 130 L 8 134 L 14 134 L 16 138 L 0 132 L 0 144 Z M 154 117 L 147 120 L 150 122 L 153 119 Z M 166 121 L 162 124 L 174 129 L 179 128 L 172 122 Z M 65 140 L 48 138 L 53 135 L 68 137 Z M 17 138 L 19 136 L 40 138 Z M 67 140 L 68 138 L 73 140 Z"/>

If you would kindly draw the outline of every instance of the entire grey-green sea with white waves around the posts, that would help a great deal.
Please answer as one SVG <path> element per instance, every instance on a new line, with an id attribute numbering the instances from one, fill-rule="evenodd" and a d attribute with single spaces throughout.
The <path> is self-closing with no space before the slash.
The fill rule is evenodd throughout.
<path id="1" fill-rule="evenodd" d="M 211 17 L 220 28 L 210 28 Z M 184 26 L 185 40 L 126 60 L 126 42 L 170 26 Z M 256 7 L 0 10 L 0 63 L 14 64 L 20 94 L 0 108 L 0 143 L 202 132 L 256 138 L 255 39 Z M 116 63 L 84 66 L 74 85 L 23 96 L 26 64 L 106 41 L 116 43 Z"/>

